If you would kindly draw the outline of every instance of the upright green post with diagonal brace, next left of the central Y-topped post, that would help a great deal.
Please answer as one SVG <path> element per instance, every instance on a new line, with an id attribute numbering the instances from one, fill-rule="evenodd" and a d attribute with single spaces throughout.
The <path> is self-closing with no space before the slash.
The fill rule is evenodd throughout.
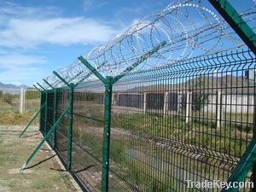
<path id="1" fill-rule="evenodd" d="M 67 170 L 71 170 L 72 161 L 72 133 L 73 133 L 73 89 L 74 84 L 69 86 L 69 111 L 68 111 L 68 147 L 67 147 Z"/>

